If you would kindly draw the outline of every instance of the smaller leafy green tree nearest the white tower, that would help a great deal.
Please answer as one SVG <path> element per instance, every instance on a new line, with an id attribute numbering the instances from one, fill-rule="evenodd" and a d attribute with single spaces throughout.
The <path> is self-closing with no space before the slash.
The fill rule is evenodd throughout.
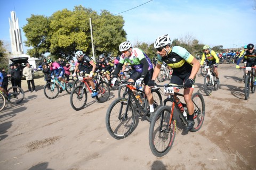
<path id="1" fill-rule="evenodd" d="M 41 57 L 42 54 L 49 52 L 50 47 L 50 22 L 43 15 L 32 14 L 27 18 L 28 23 L 22 28 L 27 37 L 25 45 L 33 47 L 27 53 L 32 57 Z"/>

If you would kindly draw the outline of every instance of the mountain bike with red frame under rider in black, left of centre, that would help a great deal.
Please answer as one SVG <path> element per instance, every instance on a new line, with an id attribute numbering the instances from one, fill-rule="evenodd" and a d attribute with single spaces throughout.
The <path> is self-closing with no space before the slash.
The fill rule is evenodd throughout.
<path id="1" fill-rule="evenodd" d="M 87 102 L 87 92 L 86 87 L 89 92 L 92 94 L 92 88 L 89 86 L 88 77 L 78 76 L 78 79 L 81 81 L 81 85 L 75 87 L 70 94 L 70 104 L 73 109 L 79 111 L 84 108 Z M 97 82 L 94 80 L 94 86 L 98 95 L 96 96 L 99 103 L 103 103 L 108 100 L 110 95 L 110 88 L 107 82 L 100 81 Z"/>

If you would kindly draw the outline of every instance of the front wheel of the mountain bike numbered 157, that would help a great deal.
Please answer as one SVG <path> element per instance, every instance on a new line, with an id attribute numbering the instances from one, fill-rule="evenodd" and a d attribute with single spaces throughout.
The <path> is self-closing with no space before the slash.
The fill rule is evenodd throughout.
<path id="1" fill-rule="evenodd" d="M 171 117 L 171 107 L 162 106 L 154 114 L 149 127 L 149 146 L 155 156 L 166 155 L 171 149 L 175 133 L 176 122 Z"/>

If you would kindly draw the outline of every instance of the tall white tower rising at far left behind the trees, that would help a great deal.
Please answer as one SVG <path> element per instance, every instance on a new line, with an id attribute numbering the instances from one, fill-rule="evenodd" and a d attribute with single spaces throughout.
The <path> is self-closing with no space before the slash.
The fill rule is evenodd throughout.
<path id="1" fill-rule="evenodd" d="M 10 23 L 10 38 L 11 38 L 11 46 L 12 46 L 12 54 L 20 55 L 23 54 L 23 44 L 21 39 L 21 31 L 19 29 L 19 21 L 16 18 L 16 14 L 14 11 L 11 11 L 11 18 L 9 18 Z"/>

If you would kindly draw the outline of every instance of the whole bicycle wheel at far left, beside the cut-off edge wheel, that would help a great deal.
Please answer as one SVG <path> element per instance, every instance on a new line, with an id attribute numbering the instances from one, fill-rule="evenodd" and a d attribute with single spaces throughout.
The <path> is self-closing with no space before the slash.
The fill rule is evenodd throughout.
<path id="1" fill-rule="evenodd" d="M 25 96 L 24 91 L 18 86 L 10 87 L 7 92 L 11 94 L 11 99 L 8 100 L 11 104 L 21 103 Z"/>

